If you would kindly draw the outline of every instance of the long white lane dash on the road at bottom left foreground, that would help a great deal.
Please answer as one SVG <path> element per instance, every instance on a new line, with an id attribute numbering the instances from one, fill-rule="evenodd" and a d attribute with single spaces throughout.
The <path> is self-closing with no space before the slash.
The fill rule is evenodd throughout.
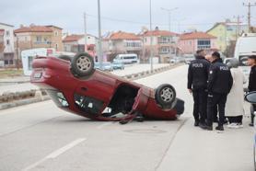
<path id="1" fill-rule="evenodd" d="M 29 165 L 28 167 L 22 169 L 22 171 L 29 171 L 32 168 L 36 167 L 37 165 L 41 165 L 41 163 L 45 162 L 48 159 L 54 159 L 57 156 L 59 156 L 60 154 L 64 154 L 66 151 L 70 150 L 71 148 L 75 147 L 77 144 L 79 144 L 81 142 L 84 142 L 86 140 L 87 140 L 86 138 L 80 138 L 80 139 L 77 139 L 74 142 L 70 142 L 67 145 L 65 145 L 64 147 L 62 147 L 62 148 L 52 152 L 52 154 L 49 154 L 46 157 L 42 158 L 40 161 L 38 161 L 38 162 L 36 162 L 36 163 L 34 163 L 32 165 Z"/>

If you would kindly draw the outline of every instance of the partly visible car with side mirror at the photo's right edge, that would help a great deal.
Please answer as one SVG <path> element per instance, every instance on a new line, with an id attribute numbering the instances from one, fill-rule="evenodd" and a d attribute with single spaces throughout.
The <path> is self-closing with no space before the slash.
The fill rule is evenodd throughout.
<path id="1" fill-rule="evenodd" d="M 256 104 L 256 91 L 250 92 L 245 96 L 245 100 L 251 104 Z M 254 112 L 255 115 L 256 112 Z M 256 117 L 254 117 L 254 130 L 256 129 Z M 253 162 L 254 170 L 256 171 L 256 130 L 253 137 Z"/>

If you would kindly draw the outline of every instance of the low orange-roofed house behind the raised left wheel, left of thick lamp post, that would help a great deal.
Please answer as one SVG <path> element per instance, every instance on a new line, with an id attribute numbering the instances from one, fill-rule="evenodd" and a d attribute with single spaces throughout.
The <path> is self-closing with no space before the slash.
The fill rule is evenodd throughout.
<path id="1" fill-rule="evenodd" d="M 96 44 L 98 38 L 87 34 L 87 50 L 93 56 L 96 53 Z M 84 34 L 72 34 L 66 35 L 63 40 L 64 51 L 69 52 L 82 52 L 85 51 L 85 35 Z"/>

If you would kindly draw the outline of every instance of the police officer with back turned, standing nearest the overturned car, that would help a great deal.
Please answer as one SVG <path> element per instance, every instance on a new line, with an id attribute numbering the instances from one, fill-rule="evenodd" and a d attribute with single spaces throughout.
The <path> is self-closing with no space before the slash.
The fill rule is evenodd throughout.
<path id="1" fill-rule="evenodd" d="M 193 97 L 194 126 L 204 127 L 206 120 L 207 79 L 210 63 L 204 50 L 196 51 L 188 70 L 188 89 Z"/>

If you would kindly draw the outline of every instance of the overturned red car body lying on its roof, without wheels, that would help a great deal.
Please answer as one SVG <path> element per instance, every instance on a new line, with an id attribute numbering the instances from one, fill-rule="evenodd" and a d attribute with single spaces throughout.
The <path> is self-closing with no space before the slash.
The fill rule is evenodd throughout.
<path id="1" fill-rule="evenodd" d="M 147 119 L 175 120 L 184 110 L 184 102 L 178 98 L 173 108 L 160 108 L 154 89 L 114 74 L 95 70 L 90 76 L 77 78 L 70 71 L 70 62 L 55 57 L 37 57 L 32 67 L 30 82 L 45 89 L 58 107 L 92 120 L 123 120 L 131 111 Z M 125 96 L 131 97 L 125 101 Z M 119 109 L 126 102 L 130 106 Z M 116 117 L 104 112 L 110 107 L 126 114 Z"/>

